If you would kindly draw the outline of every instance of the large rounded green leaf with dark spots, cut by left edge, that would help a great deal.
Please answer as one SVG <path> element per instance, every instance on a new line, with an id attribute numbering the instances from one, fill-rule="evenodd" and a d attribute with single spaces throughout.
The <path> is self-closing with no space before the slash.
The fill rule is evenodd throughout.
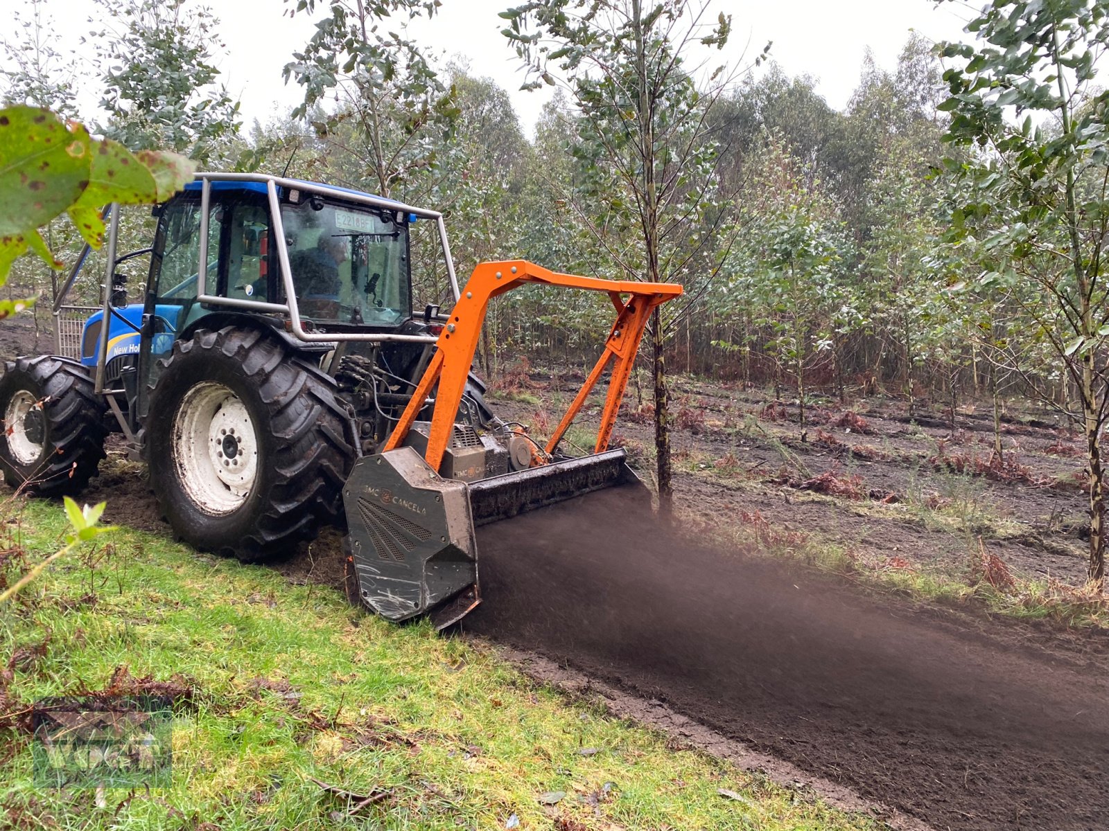
<path id="1" fill-rule="evenodd" d="M 90 138 L 49 110 L 0 110 L 0 237 L 27 234 L 72 205 L 89 185 Z"/>

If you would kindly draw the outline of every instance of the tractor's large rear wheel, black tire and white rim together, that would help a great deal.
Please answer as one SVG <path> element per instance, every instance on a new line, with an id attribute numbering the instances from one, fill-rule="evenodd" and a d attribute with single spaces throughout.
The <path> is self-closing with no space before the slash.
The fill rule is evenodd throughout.
<path id="1" fill-rule="evenodd" d="M 179 537 L 257 562 L 342 522 L 358 450 L 330 377 L 273 336 L 236 327 L 176 341 L 162 367 L 146 466 Z"/>

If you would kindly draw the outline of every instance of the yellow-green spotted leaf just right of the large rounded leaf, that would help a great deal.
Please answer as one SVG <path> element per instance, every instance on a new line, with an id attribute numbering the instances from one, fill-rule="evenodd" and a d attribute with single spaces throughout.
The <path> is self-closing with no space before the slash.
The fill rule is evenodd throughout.
<path id="1" fill-rule="evenodd" d="M 89 186 L 69 209 L 73 225 L 93 248 L 104 243 L 101 209 L 113 202 L 140 205 L 159 198 L 151 172 L 131 151 L 109 138 L 93 144 Z"/>

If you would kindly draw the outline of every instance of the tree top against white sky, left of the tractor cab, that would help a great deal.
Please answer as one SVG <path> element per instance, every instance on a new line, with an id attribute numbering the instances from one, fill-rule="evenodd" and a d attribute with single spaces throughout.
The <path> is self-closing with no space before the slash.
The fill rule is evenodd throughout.
<path id="1" fill-rule="evenodd" d="M 106 119 L 131 150 L 165 147 L 211 164 L 240 127 L 238 102 L 213 63 L 218 20 L 191 0 L 96 0 L 95 51 Z"/>

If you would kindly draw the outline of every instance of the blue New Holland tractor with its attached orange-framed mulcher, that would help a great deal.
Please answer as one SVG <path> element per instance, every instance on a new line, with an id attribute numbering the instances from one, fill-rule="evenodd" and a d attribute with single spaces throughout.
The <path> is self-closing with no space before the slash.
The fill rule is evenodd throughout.
<path id="1" fill-rule="evenodd" d="M 121 255 L 110 209 L 101 305 L 65 302 L 85 249 L 54 302 L 55 353 L 6 366 L 9 485 L 77 494 L 120 432 L 191 545 L 260 561 L 338 525 L 362 602 L 438 626 L 480 601 L 476 526 L 613 485 L 645 493 L 608 445 L 648 319 L 681 287 L 510 260 L 459 288 L 439 213 L 277 176 L 200 174 L 154 212 L 153 245 Z M 447 314 L 413 305 L 417 220 L 437 227 Z M 129 302 L 118 269 L 147 254 Z M 471 372 L 488 302 L 528 283 L 603 291 L 615 311 L 546 442 L 498 418 Z M 606 373 L 594 452 L 570 458 L 562 435 Z"/>

